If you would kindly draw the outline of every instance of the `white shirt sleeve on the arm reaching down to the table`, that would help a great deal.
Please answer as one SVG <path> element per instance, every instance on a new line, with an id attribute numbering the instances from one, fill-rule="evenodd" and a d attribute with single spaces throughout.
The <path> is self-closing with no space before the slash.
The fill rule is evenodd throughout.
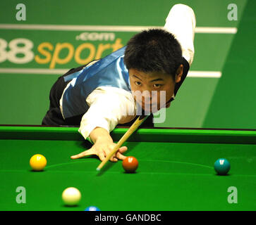
<path id="1" fill-rule="evenodd" d="M 83 115 L 78 131 L 87 139 L 95 127 L 111 132 L 117 124 L 133 120 L 136 114 L 132 94 L 115 87 L 99 87 L 87 97 L 89 110 Z"/>

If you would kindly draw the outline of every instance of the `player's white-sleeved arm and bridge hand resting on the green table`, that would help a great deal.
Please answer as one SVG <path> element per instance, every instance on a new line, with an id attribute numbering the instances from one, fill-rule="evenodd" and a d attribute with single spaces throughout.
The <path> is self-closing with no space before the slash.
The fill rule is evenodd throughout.
<path id="1" fill-rule="evenodd" d="M 85 150 L 78 155 L 73 155 L 72 159 L 82 158 L 85 155 L 97 155 L 100 160 L 104 160 L 111 150 L 116 146 L 109 134 L 116 124 L 130 122 L 135 117 L 135 104 L 133 96 L 122 94 L 122 91 L 113 89 L 96 90 L 87 99 L 89 110 L 83 116 L 79 132 L 85 139 L 90 137 L 94 143 L 92 148 Z M 128 109 L 132 109 L 126 115 Z M 133 115 L 130 115 L 133 114 Z M 127 121 L 126 121 L 127 120 Z M 127 150 L 126 146 L 119 148 L 111 161 L 123 160 L 126 156 L 122 155 Z"/>

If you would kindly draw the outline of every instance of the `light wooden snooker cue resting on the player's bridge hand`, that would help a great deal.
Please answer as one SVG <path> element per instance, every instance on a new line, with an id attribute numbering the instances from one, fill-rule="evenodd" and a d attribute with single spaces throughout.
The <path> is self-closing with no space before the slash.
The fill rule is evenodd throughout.
<path id="1" fill-rule="evenodd" d="M 118 143 L 116 144 L 116 146 L 113 148 L 113 150 L 111 150 L 111 152 L 109 153 L 109 155 L 106 156 L 106 158 L 99 164 L 99 166 L 97 167 L 97 171 L 99 171 L 100 169 L 102 169 L 102 167 L 104 167 L 104 165 L 106 164 L 106 162 L 109 161 L 109 159 L 111 158 L 112 155 L 114 155 L 118 149 L 122 146 L 122 144 L 129 138 L 129 136 L 131 134 L 133 134 L 133 132 L 140 127 L 140 124 L 142 124 L 142 122 L 144 122 L 147 119 L 148 116 L 140 116 L 138 117 L 137 120 L 135 120 L 135 122 L 130 126 L 130 128 L 128 129 L 128 131 L 126 131 L 125 134 L 123 134 L 123 136 L 121 137 L 121 139 L 118 141 Z"/>

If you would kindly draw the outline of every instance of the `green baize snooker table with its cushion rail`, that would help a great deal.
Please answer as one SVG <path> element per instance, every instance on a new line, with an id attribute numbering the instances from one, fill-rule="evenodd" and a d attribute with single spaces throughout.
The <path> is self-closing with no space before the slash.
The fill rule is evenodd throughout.
<path id="1" fill-rule="evenodd" d="M 127 130 L 111 136 L 117 142 Z M 256 210 L 256 130 L 138 129 L 124 144 L 139 161 L 134 174 L 121 161 L 97 172 L 95 156 L 71 160 L 91 146 L 78 127 L 0 126 L 0 210 Z M 42 172 L 29 165 L 36 153 L 47 158 Z M 231 163 L 228 175 L 214 171 L 218 158 Z M 25 203 L 16 201 L 20 186 Z M 82 194 L 76 207 L 61 200 L 71 186 Z"/>

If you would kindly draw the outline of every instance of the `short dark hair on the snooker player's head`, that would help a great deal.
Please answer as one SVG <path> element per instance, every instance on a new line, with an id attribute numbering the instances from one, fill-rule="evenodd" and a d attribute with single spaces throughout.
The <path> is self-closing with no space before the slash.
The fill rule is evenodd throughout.
<path id="1" fill-rule="evenodd" d="M 142 72 L 161 71 L 171 75 L 173 79 L 181 60 L 181 45 L 173 34 L 161 29 L 135 34 L 128 41 L 124 55 L 128 70 L 134 68 Z"/>

